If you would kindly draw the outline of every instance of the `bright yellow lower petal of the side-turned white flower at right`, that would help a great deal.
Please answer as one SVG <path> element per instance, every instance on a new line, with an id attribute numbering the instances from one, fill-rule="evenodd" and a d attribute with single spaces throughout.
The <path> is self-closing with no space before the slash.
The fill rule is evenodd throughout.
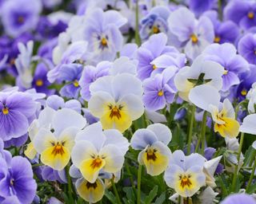
<path id="1" fill-rule="evenodd" d="M 222 120 L 225 122 L 225 124 L 214 124 L 214 131 L 218 131 L 222 137 L 229 136 L 231 138 L 234 138 L 238 136 L 239 134 L 239 128 L 240 124 L 237 120 L 231 119 L 231 118 L 222 118 Z"/>

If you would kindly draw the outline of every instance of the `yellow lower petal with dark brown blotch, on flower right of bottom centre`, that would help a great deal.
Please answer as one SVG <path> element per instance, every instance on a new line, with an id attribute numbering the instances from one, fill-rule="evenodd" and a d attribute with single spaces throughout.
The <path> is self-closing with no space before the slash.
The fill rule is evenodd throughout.
<path id="1" fill-rule="evenodd" d="M 144 151 L 142 154 L 142 161 L 149 175 L 160 175 L 166 170 L 169 163 L 169 159 L 166 155 L 162 155 L 159 151 Z"/>

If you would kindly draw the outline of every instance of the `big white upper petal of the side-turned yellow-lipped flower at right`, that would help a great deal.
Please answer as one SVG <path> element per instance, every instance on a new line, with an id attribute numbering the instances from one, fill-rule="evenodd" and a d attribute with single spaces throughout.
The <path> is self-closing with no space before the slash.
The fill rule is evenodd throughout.
<path id="1" fill-rule="evenodd" d="M 202 84 L 190 90 L 189 99 L 198 108 L 210 112 L 209 105 L 211 104 L 218 107 L 221 96 L 216 88 Z"/>

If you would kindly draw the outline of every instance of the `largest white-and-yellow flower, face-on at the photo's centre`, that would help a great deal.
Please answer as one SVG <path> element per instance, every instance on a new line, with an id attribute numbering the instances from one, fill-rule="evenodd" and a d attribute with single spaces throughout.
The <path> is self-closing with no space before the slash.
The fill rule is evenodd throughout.
<path id="1" fill-rule="evenodd" d="M 102 127 L 123 132 L 142 116 L 142 82 L 129 73 L 98 78 L 90 85 L 88 108 Z"/>

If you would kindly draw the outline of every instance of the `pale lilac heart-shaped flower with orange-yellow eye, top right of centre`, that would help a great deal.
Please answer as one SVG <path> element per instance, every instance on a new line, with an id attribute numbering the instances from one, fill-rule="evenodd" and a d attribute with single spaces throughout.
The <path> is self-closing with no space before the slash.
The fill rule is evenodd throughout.
<path id="1" fill-rule="evenodd" d="M 182 44 L 186 56 L 191 60 L 198 57 L 214 41 L 214 26 L 209 18 L 202 16 L 197 20 L 186 8 L 174 10 L 168 18 L 168 25 L 174 41 Z M 177 42 L 174 43 L 177 45 Z"/>

